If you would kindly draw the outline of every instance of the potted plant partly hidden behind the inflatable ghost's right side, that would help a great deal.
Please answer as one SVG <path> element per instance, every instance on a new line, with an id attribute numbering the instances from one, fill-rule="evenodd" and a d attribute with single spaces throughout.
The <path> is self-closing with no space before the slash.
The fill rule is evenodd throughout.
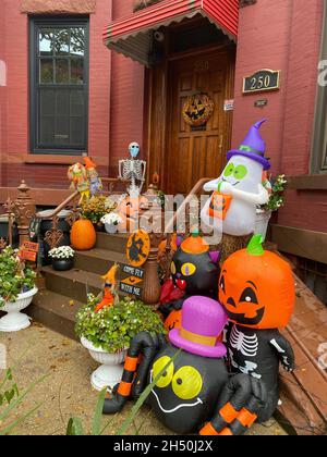
<path id="1" fill-rule="evenodd" d="M 256 224 L 255 224 L 255 234 L 263 235 L 263 238 L 266 239 L 268 223 L 274 211 L 278 211 L 279 208 L 283 206 L 283 196 L 282 193 L 287 187 L 287 180 L 284 174 L 280 174 L 276 177 L 275 181 L 266 180 L 264 186 L 270 194 L 269 201 L 266 205 L 257 208 L 256 210 Z"/>

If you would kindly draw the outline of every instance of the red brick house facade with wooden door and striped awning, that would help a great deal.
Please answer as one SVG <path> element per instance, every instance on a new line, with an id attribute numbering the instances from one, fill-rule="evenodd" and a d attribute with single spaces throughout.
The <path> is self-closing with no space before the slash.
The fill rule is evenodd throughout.
<path id="1" fill-rule="evenodd" d="M 133 13 L 134 3 L 155 4 Z M 308 281 L 320 277 L 322 291 L 313 288 L 324 298 L 327 89 L 317 82 L 327 59 L 326 1 L 241 0 L 240 7 L 238 0 L 1 0 L 0 60 L 8 70 L 0 87 L 1 185 L 24 177 L 34 187 L 65 187 L 66 165 L 85 152 L 116 176 L 119 158 L 137 140 L 149 177 L 158 172 L 166 192 L 187 194 L 198 178 L 218 176 L 230 146 L 267 118 L 271 171 L 290 177 L 272 240 L 298 256 Z M 104 46 L 104 29 L 113 50 Z M 262 69 L 280 71 L 279 90 L 244 95 L 243 77 Z M 182 118 L 195 91 L 215 101 L 206 129 Z M 234 110 L 225 111 L 230 99 Z"/>

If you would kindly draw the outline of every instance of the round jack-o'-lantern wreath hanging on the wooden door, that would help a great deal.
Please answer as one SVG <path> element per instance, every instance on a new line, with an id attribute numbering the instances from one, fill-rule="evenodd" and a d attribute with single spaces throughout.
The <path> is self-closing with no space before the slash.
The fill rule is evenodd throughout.
<path id="1" fill-rule="evenodd" d="M 207 94 L 189 97 L 183 107 L 183 119 L 191 127 L 205 125 L 211 118 L 215 103 Z"/>

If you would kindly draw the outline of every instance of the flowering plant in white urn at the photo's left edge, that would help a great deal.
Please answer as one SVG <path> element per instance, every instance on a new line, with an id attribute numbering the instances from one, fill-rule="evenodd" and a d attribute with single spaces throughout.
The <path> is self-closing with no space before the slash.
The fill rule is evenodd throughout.
<path id="1" fill-rule="evenodd" d="M 0 254 L 0 310 L 8 314 L 0 319 L 1 332 L 17 332 L 31 325 L 29 318 L 20 312 L 31 304 L 37 288 L 36 273 L 11 247 Z"/>

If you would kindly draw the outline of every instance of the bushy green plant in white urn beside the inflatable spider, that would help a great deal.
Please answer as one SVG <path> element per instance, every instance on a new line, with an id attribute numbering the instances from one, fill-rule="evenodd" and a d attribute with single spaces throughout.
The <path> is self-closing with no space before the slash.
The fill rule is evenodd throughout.
<path id="1" fill-rule="evenodd" d="M 90 356 L 101 366 L 92 374 L 94 388 L 113 388 L 121 380 L 131 339 L 140 332 L 165 333 L 160 317 L 142 301 L 125 297 L 117 305 L 95 312 L 99 299 L 77 312 L 75 333 Z"/>

